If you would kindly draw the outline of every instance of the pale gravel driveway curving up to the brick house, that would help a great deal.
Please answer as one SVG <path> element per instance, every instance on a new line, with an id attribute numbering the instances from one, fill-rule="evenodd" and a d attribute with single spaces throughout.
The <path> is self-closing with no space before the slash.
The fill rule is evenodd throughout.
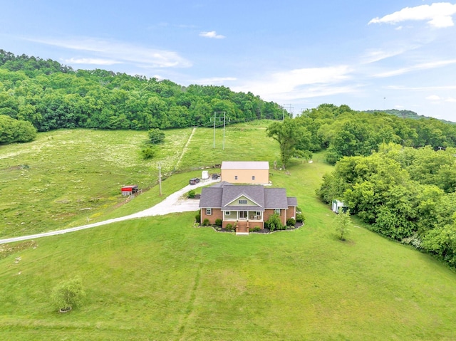
<path id="1" fill-rule="evenodd" d="M 128 216 L 121 216 L 119 218 L 108 219 L 105 221 L 99 221 L 98 223 L 87 224 L 83 226 L 72 227 L 71 229 L 64 229 L 58 231 L 49 231 L 44 232 L 42 234 L 31 234 L 28 236 L 20 236 L 14 238 L 6 238 L 0 239 L 0 244 L 4 243 L 13 243 L 15 241 L 26 241 L 29 239 L 34 238 L 41 238 L 47 236 L 56 236 L 58 234 L 68 234 L 69 232 L 80 231 L 84 229 L 91 229 L 96 226 L 102 226 L 107 224 L 112 224 L 118 221 L 124 221 L 129 219 L 138 219 L 143 218 L 146 216 L 164 216 L 165 214 L 170 213 L 177 213 L 177 212 L 188 212 L 188 211 L 197 211 L 199 208 L 199 200 L 198 199 L 183 199 L 182 196 L 190 191 L 190 189 L 195 189 L 197 187 L 206 186 L 208 184 L 214 184 L 215 182 L 219 182 L 220 180 L 202 180 L 199 184 L 190 185 L 188 184 L 184 188 L 180 189 L 173 194 L 170 194 L 166 197 L 165 200 L 161 201 L 160 203 L 156 204 L 155 206 L 150 207 L 150 209 L 145 209 L 144 211 L 140 211 L 138 213 L 130 214 Z"/>

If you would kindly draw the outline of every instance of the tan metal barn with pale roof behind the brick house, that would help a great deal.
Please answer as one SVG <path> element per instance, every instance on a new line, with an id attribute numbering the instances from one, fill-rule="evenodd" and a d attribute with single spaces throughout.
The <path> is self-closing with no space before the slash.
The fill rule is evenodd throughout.
<path id="1" fill-rule="evenodd" d="M 224 161 L 221 167 L 222 181 L 233 184 L 268 184 L 269 162 Z"/>

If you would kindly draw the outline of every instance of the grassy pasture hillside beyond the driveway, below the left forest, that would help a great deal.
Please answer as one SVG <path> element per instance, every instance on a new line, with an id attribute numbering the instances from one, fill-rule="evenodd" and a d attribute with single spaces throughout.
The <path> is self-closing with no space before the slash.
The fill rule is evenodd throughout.
<path id="1" fill-rule="evenodd" d="M 140 156 L 147 132 L 58 130 L 40 133 L 27 144 L 0 146 L 0 237 L 87 224 L 116 216 L 116 212 L 123 215 L 132 205 L 125 203 L 120 187 L 138 184 L 145 191 L 154 187 L 158 162 L 165 177 L 174 171 L 220 164 L 231 155 L 274 162 L 279 159 L 278 150 L 265 137 L 266 124 L 228 126 L 225 149 L 222 129 L 216 131 L 215 149 L 212 129 L 195 129 L 190 141 L 191 128 L 166 130 L 165 143 L 150 161 Z M 188 176 L 172 192 L 182 188 Z M 165 194 L 171 193 L 163 188 Z M 143 194 L 143 209 L 159 200 L 157 193 L 155 188 Z"/>

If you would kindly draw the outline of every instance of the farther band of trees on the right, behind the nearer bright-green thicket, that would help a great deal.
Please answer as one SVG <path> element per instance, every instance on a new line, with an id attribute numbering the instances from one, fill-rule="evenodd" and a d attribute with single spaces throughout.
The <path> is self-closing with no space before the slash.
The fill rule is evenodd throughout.
<path id="1" fill-rule="evenodd" d="M 311 151 L 327 149 L 331 164 L 341 157 L 368 156 L 383 142 L 403 147 L 430 145 L 435 150 L 456 147 L 456 125 L 434 118 L 401 118 L 323 104 L 302 112 L 296 120 L 311 132 Z"/>

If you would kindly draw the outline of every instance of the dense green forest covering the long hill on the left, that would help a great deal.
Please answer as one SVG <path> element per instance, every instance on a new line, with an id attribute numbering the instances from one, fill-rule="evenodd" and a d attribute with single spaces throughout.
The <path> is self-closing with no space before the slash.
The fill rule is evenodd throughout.
<path id="1" fill-rule="evenodd" d="M 31 122 L 38 131 L 210 126 L 215 111 L 227 112 L 230 122 L 282 117 L 276 103 L 224 86 L 183 87 L 140 75 L 73 70 L 0 50 L 0 115 Z"/>

